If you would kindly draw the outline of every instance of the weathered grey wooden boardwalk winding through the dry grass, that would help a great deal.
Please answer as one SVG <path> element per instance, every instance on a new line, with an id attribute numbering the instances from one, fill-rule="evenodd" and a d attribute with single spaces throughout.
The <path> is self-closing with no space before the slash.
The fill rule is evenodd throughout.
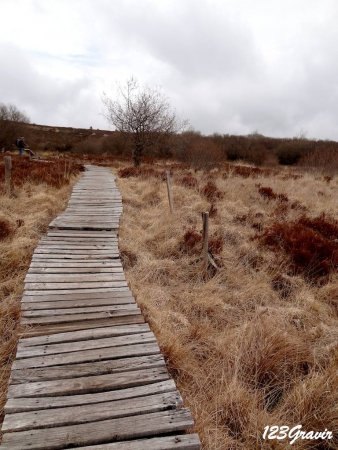
<path id="1" fill-rule="evenodd" d="M 188 409 L 120 261 L 121 196 L 88 166 L 36 248 L 3 449 L 197 450 Z"/>

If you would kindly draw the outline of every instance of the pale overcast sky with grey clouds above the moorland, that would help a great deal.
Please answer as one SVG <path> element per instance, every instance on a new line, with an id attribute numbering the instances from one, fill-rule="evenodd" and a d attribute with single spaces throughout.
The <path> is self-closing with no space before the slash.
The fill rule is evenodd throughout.
<path id="1" fill-rule="evenodd" d="M 338 140 L 337 24 L 337 0 L 0 0 L 0 102 L 109 129 L 133 75 L 203 133 Z"/>

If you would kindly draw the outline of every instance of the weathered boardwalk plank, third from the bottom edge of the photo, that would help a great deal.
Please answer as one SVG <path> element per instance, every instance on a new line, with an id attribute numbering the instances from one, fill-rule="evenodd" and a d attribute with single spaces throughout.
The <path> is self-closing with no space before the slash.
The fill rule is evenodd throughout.
<path id="1" fill-rule="evenodd" d="M 130 399 L 71 406 L 52 410 L 38 410 L 6 414 L 3 432 L 33 430 L 38 428 L 76 425 L 99 420 L 128 417 L 156 411 L 174 409 L 182 405 L 176 391 Z"/>

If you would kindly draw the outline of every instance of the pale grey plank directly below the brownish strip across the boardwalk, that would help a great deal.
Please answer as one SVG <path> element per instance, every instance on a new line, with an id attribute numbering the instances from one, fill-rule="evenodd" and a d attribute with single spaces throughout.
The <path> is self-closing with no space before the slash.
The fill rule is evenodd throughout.
<path id="1" fill-rule="evenodd" d="M 62 342 L 86 341 L 89 339 L 100 339 L 113 336 L 124 336 L 133 333 L 146 333 L 150 331 L 148 324 L 120 325 L 106 328 L 89 328 L 85 331 L 72 331 L 70 333 L 52 334 L 33 338 L 20 339 L 21 346 L 48 345 Z"/>

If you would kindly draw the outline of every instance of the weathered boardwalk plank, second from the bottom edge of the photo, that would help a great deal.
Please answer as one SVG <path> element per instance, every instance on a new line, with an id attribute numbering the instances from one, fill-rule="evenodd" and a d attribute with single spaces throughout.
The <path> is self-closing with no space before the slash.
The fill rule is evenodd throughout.
<path id="1" fill-rule="evenodd" d="M 187 409 L 160 411 L 80 425 L 5 433 L 3 445 L 11 450 L 52 450 L 172 434 L 192 426 L 193 420 Z"/>

